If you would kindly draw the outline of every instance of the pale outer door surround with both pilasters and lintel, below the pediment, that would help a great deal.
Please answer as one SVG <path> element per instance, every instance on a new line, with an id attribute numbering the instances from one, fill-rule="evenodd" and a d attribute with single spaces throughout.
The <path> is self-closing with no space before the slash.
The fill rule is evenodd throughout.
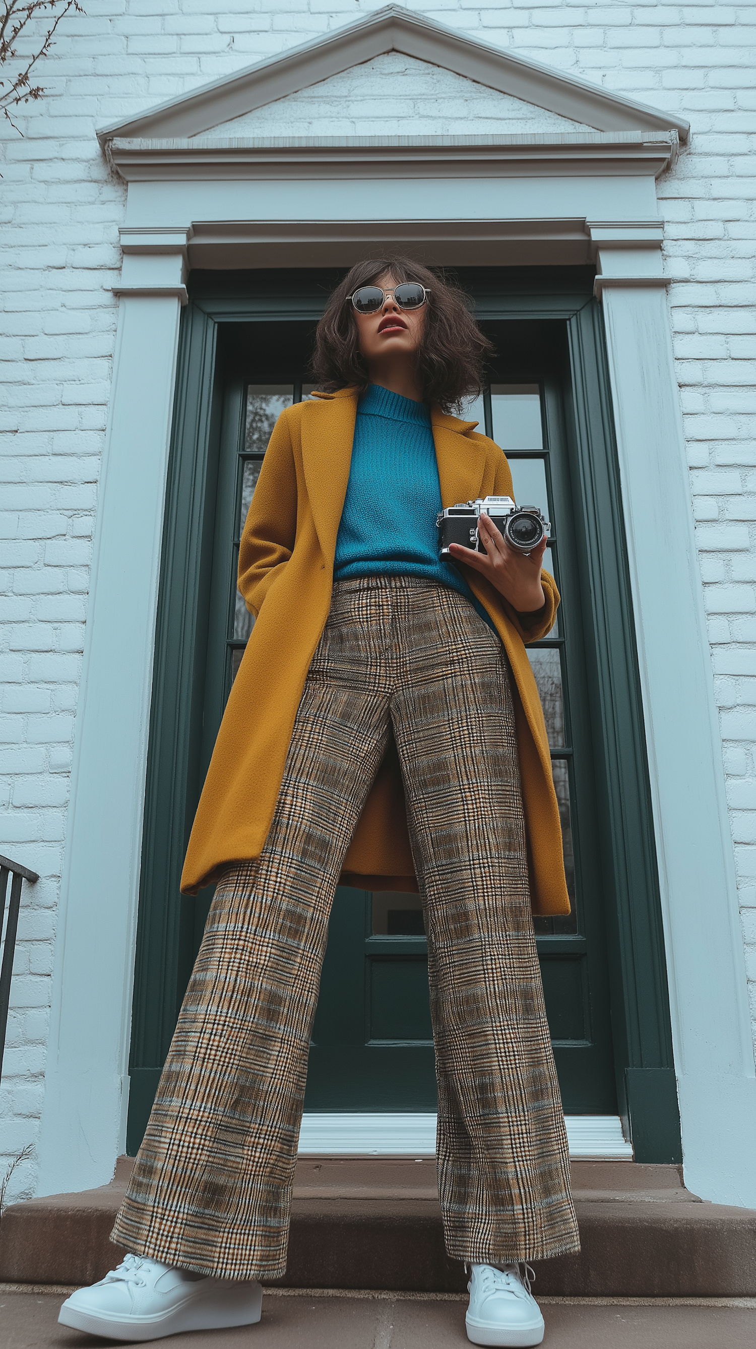
<path id="1" fill-rule="evenodd" d="M 264 264 L 274 244 L 278 266 L 301 264 L 305 254 L 313 266 L 333 266 L 368 248 L 408 246 L 422 247 L 431 264 L 596 263 L 685 1176 L 702 1198 L 756 1206 L 745 955 L 654 182 L 674 173 L 674 138 L 578 132 L 524 144 L 504 135 L 488 138 L 485 169 L 480 155 L 460 156 L 460 138 L 430 139 L 371 143 L 356 156 L 349 146 L 336 178 L 333 156 L 321 162 L 315 142 L 276 143 L 275 181 L 256 150 L 232 165 L 222 144 L 181 165 L 158 143 L 148 147 L 154 163 L 141 148 L 144 163 L 139 155 L 131 167 L 128 156 L 119 162 L 131 181 L 113 287 L 119 321 L 58 904 L 39 1194 L 106 1183 L 125 1141 L 154 634 L 187 270 L 203 248 L 222 268 Z M 373 150 L 376 165 L 363 173 Z M 407 197 L 416 214 L 372 220 L 376 175 L 422 177 L 423 192 Z M 598 594 L 592 602 L 601 607 Z"/>

